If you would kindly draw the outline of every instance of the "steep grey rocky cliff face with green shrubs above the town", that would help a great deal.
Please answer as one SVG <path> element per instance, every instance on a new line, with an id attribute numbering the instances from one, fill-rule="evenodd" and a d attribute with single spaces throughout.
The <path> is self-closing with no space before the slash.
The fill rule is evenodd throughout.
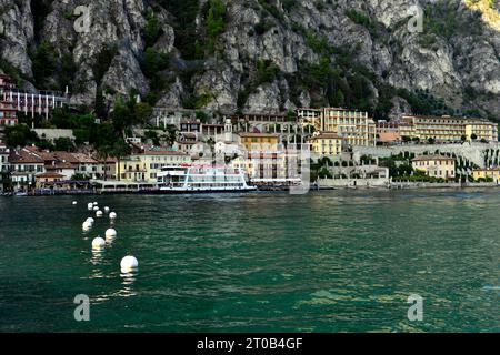
<path id="1" fill-rule="evenodd" d="M 498 1 L 0 0 L 0 19 L 2 71 L 76 103 L 500 118 Z"/>

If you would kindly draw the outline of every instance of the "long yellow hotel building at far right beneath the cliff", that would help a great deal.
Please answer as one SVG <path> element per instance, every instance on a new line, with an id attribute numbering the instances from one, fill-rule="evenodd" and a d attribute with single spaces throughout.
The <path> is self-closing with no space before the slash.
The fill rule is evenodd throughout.
<path id="1" fill-rule="evenodd" d="M 476 135 L 478 140 L 498 142 L 498 124 L 484 119 L 456 118 L 450 115 L 403 115 L 399 122 L 401 136 L 437 142 L 461 142 Z"/>

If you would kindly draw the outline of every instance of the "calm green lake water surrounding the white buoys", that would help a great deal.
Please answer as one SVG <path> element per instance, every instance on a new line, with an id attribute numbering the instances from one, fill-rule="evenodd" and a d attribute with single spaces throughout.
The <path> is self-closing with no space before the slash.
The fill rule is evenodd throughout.
<path id="1" fill-rule="evenodd" d="M 0 199 L 0 332 L 499 332 L 499 215 L 498 191 Z"/>

